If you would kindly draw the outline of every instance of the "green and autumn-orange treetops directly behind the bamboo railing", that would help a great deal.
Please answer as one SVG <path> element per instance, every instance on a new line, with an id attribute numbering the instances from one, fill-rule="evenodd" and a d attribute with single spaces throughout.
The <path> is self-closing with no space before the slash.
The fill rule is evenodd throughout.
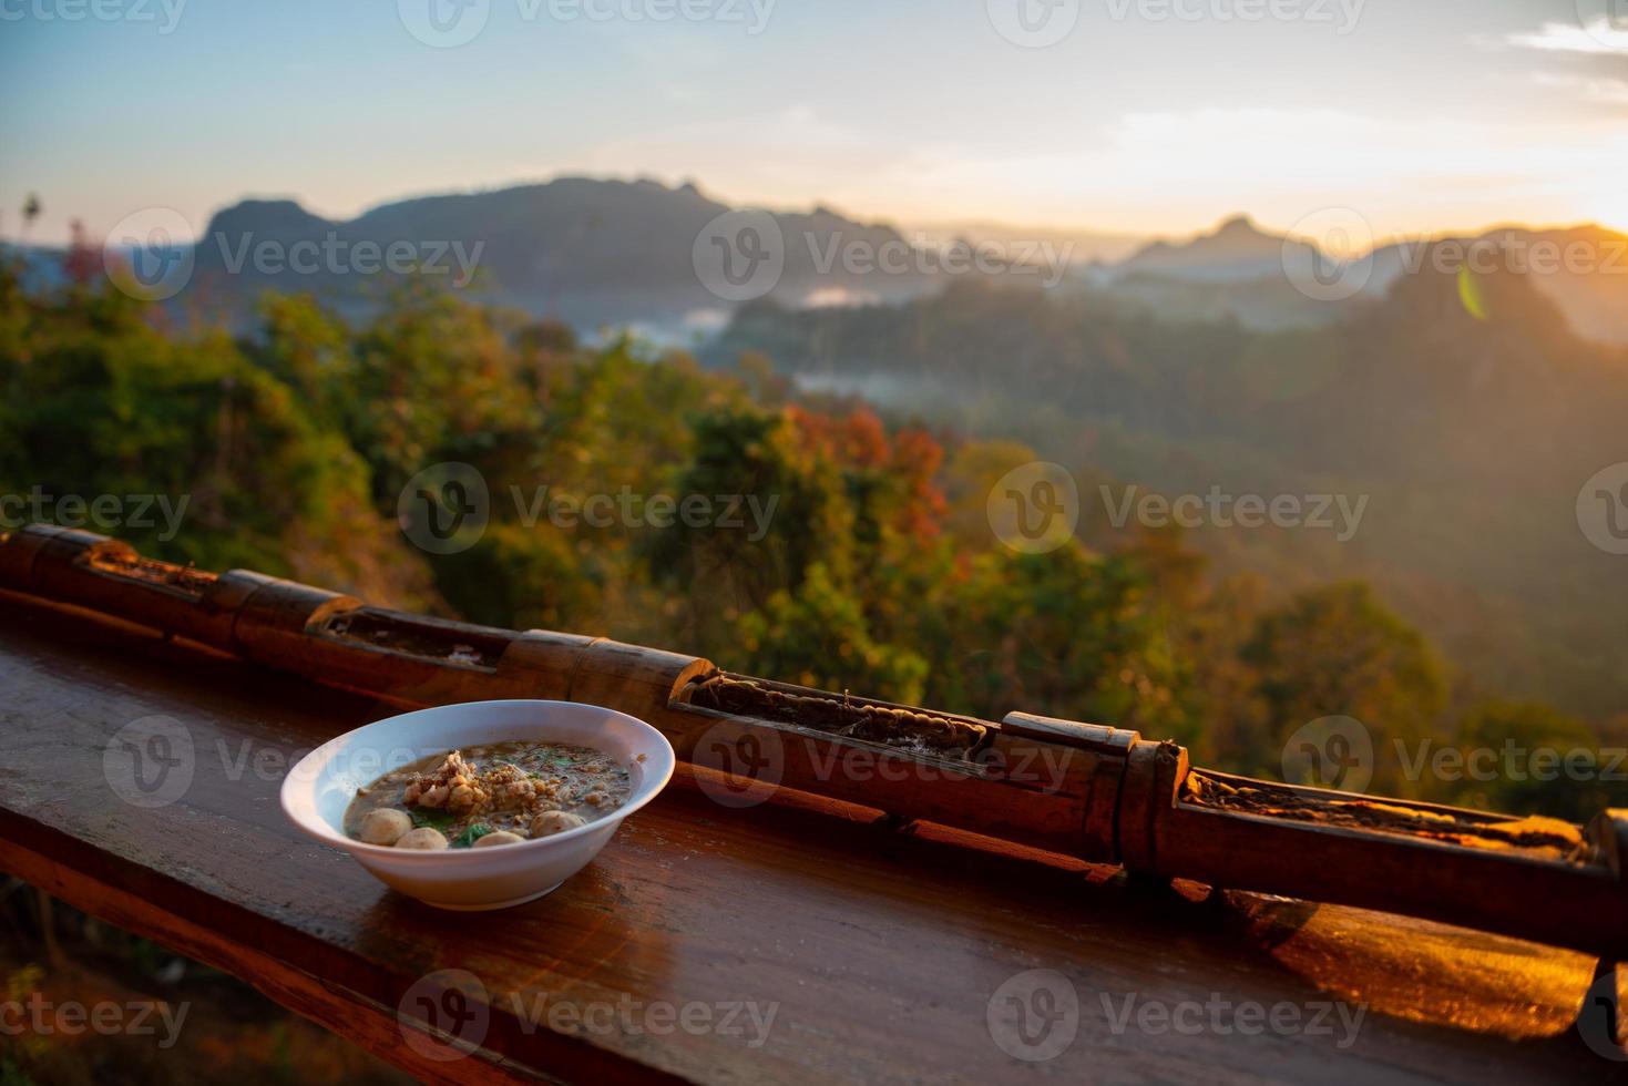
<path id="1" fill-rule="evenodd" d="M 581 347 L 562 326 L 423 282 L 365 327 L 311 298 L 267 295 L 254 334 L 233 339 L 168 327 L 91 267 L 70 262 L 63 287 L 42 293 L 0 272 L 0 493 L 164 497 L 184 510 L 174 531 L 88 524 L 153 554 L 487 624 L 667 645 L 900 702 L 1140 728 L 1190 742 L 1206 764 L 1265 775 L 1280 773 L 1289 734 L 1338 713 L 1371 729 L 1376 783 L 1398 793 L 1582 814 L 1621 788 L 1532 796 L 1504 783 L 1488 795 L 1405 772 L 1392 741 L 1519 734 L 1592 747 L 1602 733 L 1491 700 L 1496 687 L 1472 698 L 1364 583 L 1281 591 L 1219 576 L 1169 531 L 1097 532 L 1091 547 L 1074 539 L 1050 554 L 1003 545 L 985 506 L 995 480 L 1035 459 L 1016 441 L 796 392 L 762 357 L 713 373 L 633 340 Z M 975 306 L 1044 303 L 943 304 L 967 314 L 970 335 L 1003 327 L 980 322 Z M 1034 309 L 1034 329 L 1008 335 L 1078 327 L 1047 314 Z M 967 345 L 920 334 L 917 347 L 936 344 L 952 374 Z M 1123 348 L 1131 334 L 1156 332 L 1127 326 L 1104 342 Z M 1200 340 L 1210 337 L 1193 332 Z M 1224 358 L 1229 342 L 1210 350 Z M 1004 347 L 1017 379 L 1045 365 L 1021 339 Z M 1190 379 L 1205 381 L 1197 366 Z M 1127 374 L 1120 402 L 1135 397 Z M 1055 440 L 1071 410 L 1053 402 L 1042 412 L 1050 428 L 1031 431 Z M 1198 436 L 1221 422 L 1193 412 L 1190 425 Z M 431 554 L 397 516 L 420 472 L 446 462 L 475 471 L 490 516 L 472 545 Z M 560 498 L 591 510 L 596 495 L 619 511 L 552 511 Z M 656 513 L 658 497 L 692 495 L 737 515 Z M 47 506 L 46 519 L 75 523 L 65 513 Z"/>

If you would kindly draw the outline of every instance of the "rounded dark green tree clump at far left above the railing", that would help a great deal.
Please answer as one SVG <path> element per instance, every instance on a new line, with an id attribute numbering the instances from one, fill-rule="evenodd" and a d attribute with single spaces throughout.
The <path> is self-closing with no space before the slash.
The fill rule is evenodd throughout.
<path id="1" fill-rule="evenodd" d="M 164 335 L 122 295 L 77 285 L 29 300 L 8 337 L 0 479 L 10 493 L 164 497 L 189 531 L 169 537 L 150 513 L 140 519 L 155 523 L 122 534 L 171 558 L 275 573 L 301 568 L 290 557 L 309 554 L 301 541 L 344 555 L 366 531 L 358 518 L 373 521 L 366 472 L 344 436 L 228 337 Z"/>

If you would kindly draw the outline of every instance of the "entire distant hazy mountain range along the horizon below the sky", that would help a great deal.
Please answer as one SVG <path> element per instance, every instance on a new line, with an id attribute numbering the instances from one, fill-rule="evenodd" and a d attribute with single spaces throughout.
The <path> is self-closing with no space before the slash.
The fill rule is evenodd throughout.
<path id="1" fill-rule="evenodd" d="M 379 251 L 409 246 L 425 267 L 436 261 L 459 287 L 466 270 L 474 272 L 470 288 L 484 301 L 586 332 L 612 326 L 685 340 L 723 327 L 736 306 L 702 282 L 697 239 L 739 210 L 692 182 L 591 177 L 397 200 L 352 220 L 324 218 L 295 200 L 249 199 L 213 215 L 194 251 L 192 282 L 171 304 L 241 327 L 252 321 L 254 298 L 275 288 L 311 291 L 363 316 L 384 277 L 355 274 L 345 254 L 373 243 Z M 827 207 L 765 217 L 778 228 L 785 254 L 767 293 L 790 306 L 905 301 L 957 278 L 1019 272 L 1063 293 L 1105 291 L 1164 319 L 1234 317 L 1263 331 L 1328 326 L 1343 319 L 1351 301 L 1296 290 L 1294 269 L 1340 272 L 1340 265 L 1312 243 L 1242 215 L 1182 239 L 988 221 L 899 228 Z M 723 220 L 724 230 L 737 225 Z M 314 270 L 254 256 L 267 244 L 287 254 L 301 241 L 340 256 L 337 262 L 324 257 Z M 1473 256 L 1477 270 L 1534 262 L 1534 283 L 1574 331 L 1628 344 L 1628 238 L 1600 226 L 1501 226 L 1465 238 L 1390 241 L 1350 269 L 1363 280 L 1354 300 L 1384 296 L 1398 277 L 1423 270 L 1423 254 L 1442 254 L 1442 246 L 1457 246 L 1460 262 Z M 874 267 L 882 252 L 895 257 L 895 267 Z M 29 252 L 33 274 L 54 275 L 59 256 Z"/>

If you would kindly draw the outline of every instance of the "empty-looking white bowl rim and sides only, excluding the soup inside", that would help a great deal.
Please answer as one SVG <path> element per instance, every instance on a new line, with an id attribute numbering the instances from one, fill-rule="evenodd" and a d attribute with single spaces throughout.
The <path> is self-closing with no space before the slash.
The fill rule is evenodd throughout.
<path id="1" fill-rule="evenodd" d="M 597 747 L 628 769 L 633 793 L 602 819 L 518 845 L 417 852 L 345 837 L 345 808 L 361 785 L 430 754 L 510 739 Z M 581 871 L 622 819 L 666 786 L 674 760 L 666 736 L 627 713 L 578 702 L 467 702 L 391 716 L 324 742 L 288 770 L 282 799 L 295 825 L 348 852 L 402 894 L 438 909 L 503 909 Z"/>

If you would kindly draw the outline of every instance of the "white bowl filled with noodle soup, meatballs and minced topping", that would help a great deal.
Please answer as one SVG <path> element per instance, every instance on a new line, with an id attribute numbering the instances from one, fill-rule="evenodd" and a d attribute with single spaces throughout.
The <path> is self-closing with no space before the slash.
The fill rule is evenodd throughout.
<path id="1" fill-rule="evenodd" d="M 641 720 L 578 702 L 469 702 L 332 739 L 283 782 L 283 812 L 438 909 L 505 909 L 586 866 L 672 778 Z"/>

